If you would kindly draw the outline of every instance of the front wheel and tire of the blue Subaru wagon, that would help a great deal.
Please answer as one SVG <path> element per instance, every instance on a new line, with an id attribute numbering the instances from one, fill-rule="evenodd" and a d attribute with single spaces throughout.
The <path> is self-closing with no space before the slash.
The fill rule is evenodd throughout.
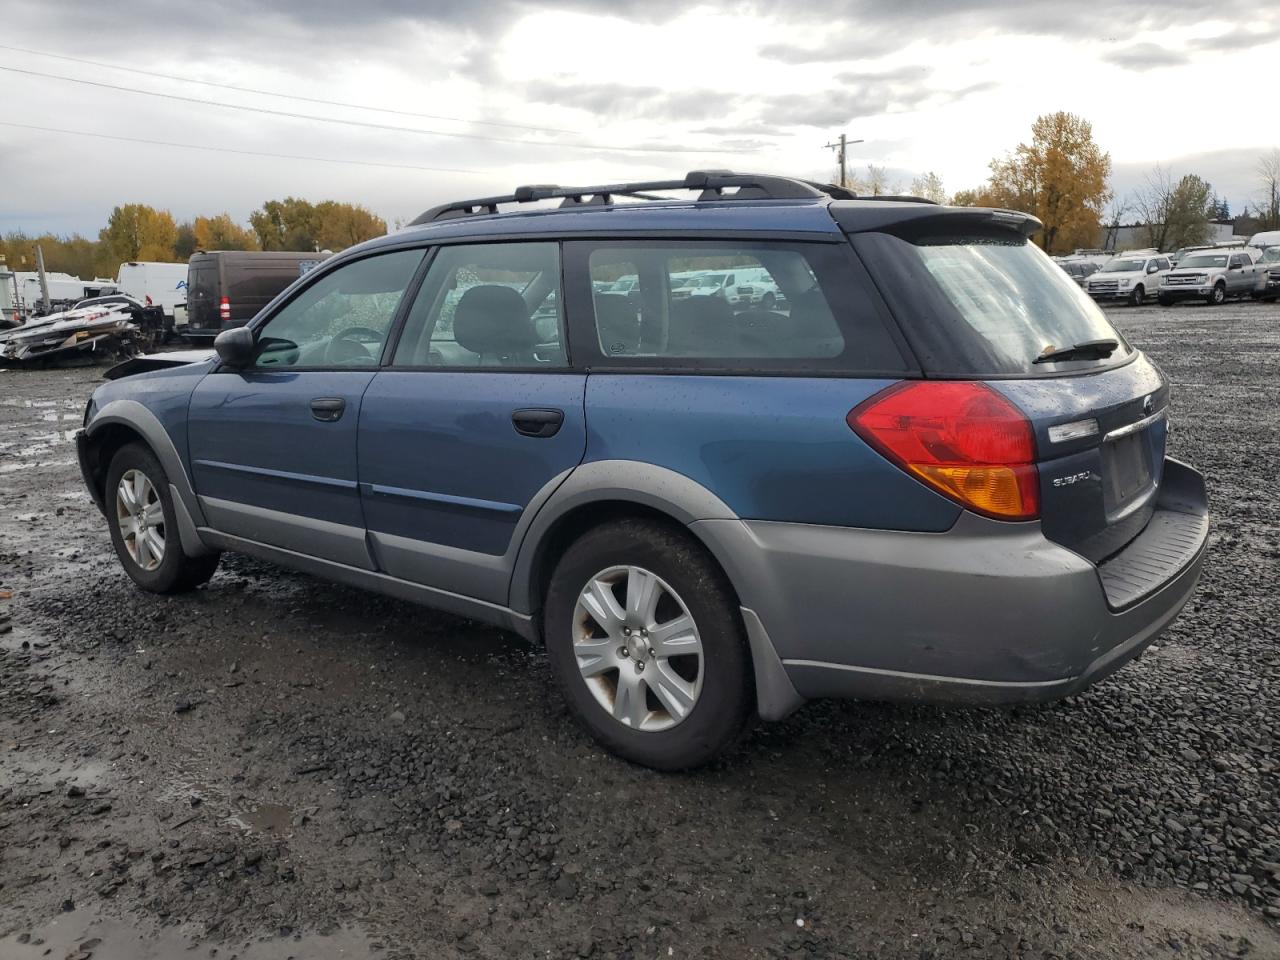
<path id="1" fill-rule="evenodd" d="M 169 477 L 147 447 L 131 443 L 116 452 L 104 493 L 115 556 L 143 590 L 183 593 L 207 582 L 218 570 L 220 554 L 188 557 L 182 549 Z"/>

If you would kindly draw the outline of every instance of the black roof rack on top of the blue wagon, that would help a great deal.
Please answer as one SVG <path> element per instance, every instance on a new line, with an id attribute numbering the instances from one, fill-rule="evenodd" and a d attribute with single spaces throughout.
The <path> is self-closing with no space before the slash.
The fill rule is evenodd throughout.
<path id="1" fill-rule="evenodd" d="M 733 193 L 726 189 L 736 188 Z M 692 170 L 680 180 L 639 180 L 635 183 L 609 183 L 595 187 L 559 187 L 552 183 L 516 187 L 513 193 L 500 197 L 481 197 L 479 200 L 458 200 L 452 204 L 434 206 L 410 221 L 411 227 L 438 220 L 453 220 L 462 216 L 485 216 L 500 212 L 503 204 L 531 204 L 536 200 L 562 200 L 562 207 L 604 206 L 614 197 L 631 200 L 666 200 L 653 196 L 658 189 L 696 189 L 698 200 L 813 200 L 831 197 L 833 200 L 856 200 L 852 191 L 833 183 L 814 183 L 792 177 L 773 177 L 754 173 L 733 173 L 732 170 Z"/>

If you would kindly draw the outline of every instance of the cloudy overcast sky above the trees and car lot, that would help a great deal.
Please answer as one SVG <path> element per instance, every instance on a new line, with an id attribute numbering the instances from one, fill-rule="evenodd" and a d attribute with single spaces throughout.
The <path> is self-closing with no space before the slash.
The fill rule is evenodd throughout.
<path id="1" fill-rule="evenodd" d="M 0 45 L 173 77 L 0 49 L 27 72 L 0 69 L 3 122 L 360 161 L 0 125 L 0 232 L 96 236 L 123 202 L 246 221 L 294 195 L 393 223 L 520 183 L 831 179 L 841 132 L 851 165 L 955 191 L 1052 110 L 1093 123 L 1117 192 L 1162 163 L 1239 211 L 1280 143 L 1280 5 L 1252 0 L 0 0 Z"/>

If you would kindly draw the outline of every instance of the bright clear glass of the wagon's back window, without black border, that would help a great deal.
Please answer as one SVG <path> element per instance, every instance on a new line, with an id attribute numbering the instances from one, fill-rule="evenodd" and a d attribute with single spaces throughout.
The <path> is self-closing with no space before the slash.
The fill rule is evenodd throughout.
<path id="1" fill-rule="evenodd" d="M 1110 361 L 1062 361 L 1068 369 L 1129 353 L 1093 300 L 1025 239 L 948 238 L 910 247 L 977 334 L 977 340 L 965 338 L 974 374 L 1025 374 L 1042 353 L 1088 340 L 1115 339 L 1120 347 Z"/>

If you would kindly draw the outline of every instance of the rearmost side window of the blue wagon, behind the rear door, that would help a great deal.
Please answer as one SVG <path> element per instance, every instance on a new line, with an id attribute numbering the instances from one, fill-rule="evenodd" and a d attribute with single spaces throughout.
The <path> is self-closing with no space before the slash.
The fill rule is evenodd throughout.
<path id="1" fill-rule="evenodd" d="M 604 365 L 901 372 L 844 244 L 576 244 L 590 275 L 589 351 Z M 575 320 L 577 323 L 577 320 Z"/>

